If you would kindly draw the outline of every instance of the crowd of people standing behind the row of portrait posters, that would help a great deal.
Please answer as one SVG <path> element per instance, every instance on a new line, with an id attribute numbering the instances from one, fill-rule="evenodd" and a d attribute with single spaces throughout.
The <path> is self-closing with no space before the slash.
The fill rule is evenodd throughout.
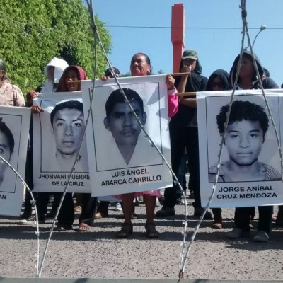
<path id="1" fill-rule="evenodd" d="M 255 67 L 253 65 L 253 57 L 247 50 L 243 52 L 241 65 L 238 66 L 240 55 L 238 55 L 233 62 L 230 73 L 225 70 L 217 69 L 207 79 L 202 76 L 202 65 L 197 52 L 194 50 L 186 50 L 183 52 L 180 61 L 180 73 L 185 73 L 183 76 L 174 77 L 172 75 L 166 76 L 166 86 L 168 89 L 168 117 L 170 117 L 169 131 L 171 137 L 171 161 L 172 168 L 175 175 L 180 175 L 180 167 L 187 166 L 190 173 L 190 180 L 187 189 L 190 190 L 191 197 L 194 198 L 194 216 L 200 217 L 204 213 L 204 208 L 201 205 L 200 197 L 200 158 L 199 158 L 199 135 L 197 127 L 197 98 L 196 96 L 177 96 L 177 93 L 196 93 L 197 91 L 225 91 L 231 90 L 236 85 L 238 90 L 259 89 L 260 79 L 262 80 L 263 88 L 279 88 L 275 81 L 273 81 L 266 69 L 262 67 L 260 60 L 256 57 L 256 64 L 260 74 L 260 78 L 256 76 Z M 236 71 L 239 70 L 238 81 L 236 81 Z M 132 76 L 150 76 L 152 73 L 151 60 L 144 53 L 134 54 L 130 61 L 130 72 Z M 115 74 L 113 74 L 115 72 Z M 11 84 L 11 81 L 6 76 L 6 65 L 0 60 L 0 105 L 10 106 L 27 106 L 31 108 L 33 115 L 42 112 L 42 108 L 38 105 L 33 105 L 33 99 L 37 98 L 38 93 L 60 92 L 60 91 L 79 91 L 81 90 L 81 83 L 79 81 L 86 79 L 85 71 L 79 66 L 68 66 L 67 62 L 62 59 L 53 58 L 45 67 L 45 74 L 47 79 L 42 86 L 39 86 L 35 91 L 30 91 L 26 96 L 26 104 L 23 93 L 17 87 Z M 107 69 L 102 80 L 107 80 L 113 76 L 120 76 L 120 71 L 117 68 Z M 128 93 L 125 88 L 125 94 L 129 98 L 131 105 L 134 105 L 134 94 Z M 119 91 L 118 91 L 119 92 Z M 121 96 L 121 93 L 115 94 Z M 131 102 L 132 101 L 132 102 Z M 243 108 L 243 105 L 239 105 Z M 64 108 L 64 109 L 63 109 Z M 63 107 L 63 110 L 67 109 Z M 235 105 L 234 112 L 236 110 Z M 61 110 L 62 110 L 61 109 Z M 238 109 L 238 108 L 237 108 Z M 58 110 L 59 113 L 61 110 Z M 74 108 L 72 108 L 74 110 Z M 226 111 L 223 109 L 223 111 Z M 249 110 L 247 110 L 249 111 Z M 261 110 L 258 109 L 258 112 Z M 141 115 L 142 115 L 141 111 Z M 233 109 L 232 109 L 233 114 Z M 59 115 L 59 114 L 58 114 Z M 83 114 L 82 114 L 83 115 Z M 224 116 L 226 112 L 224 113 Z M 225 116 L 226 117 L 226 116 Z M 143 117 L 141 116 L 141 121 Z M 105 127 L 110 127 L 110 121 L 105 118 Z M 217 118 L 218 119 L 218 118 Z M 220 118 L 219 118 L 220 119 Z M 229 125 L 232 127 L 236 122 L 249 122 L 248 118 L 241 117 L 238 120 L 233 120 Z M 217 121 L 218 122 L 218 121 Z M 255 123 L 254 121 L 252 121 Z M 251 122 L 250 122 L 251 123 Z M 219 126 L 220 127 L 220 126 Z M 30 141 L 28 147 L 25 180 L 31 190 L 33 190 L 33 135 L 32 135 L 32 119 L 30 120 Z M 219 132 L 220 128 L 219 128 Z M 265 131 L 266 132 L 266 131 Z M 265 132 L 262 133 L 261 142 L 264 141 Z M 227 140 L 228 143 L 228 140 Z M 60 149 L 58 149 L 60 154 Z M 127 156 L 126 156 L 127 157 Z M 125 158 L 126 158 L 125 157 Z M 270 173 L 269 168 L 262 166 L 256 160 L 253 161 L 253 166 L 258 170 L 260 179 L 258 180 L 275 180 L 281 176 L 275 173 Z M 231 158 L 229 163 L 223 165 L 223 169 L 219 175 L 219 182 L 225 182 L 233 179 L 231 168 L 238 170 L 244 169 L 246 164 L 242 161 Z M 245 171 L 246 172 L 246 171 Z M 216 171 L 214 168 L 209 168 L 209 178 L 215 179 Z M 246 176 L 246 178 L 248 178 Z M 224 180 L 225 179 L 225 180 Z M 248 179 L 245 179 L 248 180 Z M 277 179 L 276 179 L 277 180 Z M 186 186 L 186 185 L 185 185 Z M 186 187 L 183 186 L 185 190 Z M 154 216 L 165 218 L 175 215 L 175 204 L 178 202 L 178 195 L 180 194 L 178 184 L 173 182 L 173 187 L 166 188 L 163 196 L 163 207 L 159 209 L 156 214 L 154 210 L 156 207 L 156 199 L 161 198 L 161 191 L 156 190 L 127 193 L 123 195 L 115 195 L 117 200 L 122 204 L 122 211 L 124 214 L 124 222 L 122 229 L 117 231 L 117 238 L 128 238 L 133 233 L 132 219 L 136 217 L 134 214 L 134 200 L 142 196 L 146 208 L 146 224 L 145 231 L 148 238 L 158 238 L 160 235 L 154 224 Z M 47 214 L 47 204 L 50 197 L 53 196 L 52 210 Z M 62 193 L 37 193 L 37 209 L 39 214 L 39 223 L 44 223 L 47 217 L 54 217 L 59 206 Z M 35 220 L 32 214 L 31 198 L 26 194 L 24 202 L 24 212 L 21 215 L 21 224 L 30 224 Z M 96 197 L 91 197 L 91 194 L 81 194 L 77 199 L 79 209 L 81 209 L 81 216 L 79 218 L 79 229 L 77 231 L 88 231 L 93 224 L 95 218 L 102 218 L 108 216 L 108 206 L 110 202 L 100 201 Z M 80 200 L 80 202 L 79 202 Z M 120 210 L 120 202 L 117 202 L 117 210 Z M 272 230 L 272 221 L 276 221 L 277 225 L 283 226 L 283 206 L 279 206 L 278 215 L 273 215 L 272 206 L 258 207 L 258 233 L 253 238 L 254 241 L 267 242 L 270 238 Z M 213 222 L 212 229 L 221 229 L 222 212 L 221 208 L 212 209 Z M 250 231 L 250 219 L 255 216 L 254 207 L 237 207 L 234 216 L 234 229 L 227 233 L 227 237 L 235 239 L 243 236 Z M 212 219 L 211 212 L 207 211 L 204 214 L 204 219 Z M 74 223 L 74 197 L 71 193 L 67 193 L 64 197 L 62 207 L 57 217 L 57 231 L 65 231 L 72 229 Z"/>

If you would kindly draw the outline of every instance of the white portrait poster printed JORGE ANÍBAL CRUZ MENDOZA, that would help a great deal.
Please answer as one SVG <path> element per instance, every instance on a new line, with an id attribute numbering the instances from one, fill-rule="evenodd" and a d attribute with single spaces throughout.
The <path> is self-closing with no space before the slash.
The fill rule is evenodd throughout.
<path id="1" fill-rule="evenodd" d="M 265 90 L 282 144 L 281 90 Z M 260 90 L 236 91 L 218 164 L 221 139 L 229 112 L 231 91 L 197 93 L 202 206 L 212 193 L 211 207 L 251 207 L 282 204 L 282 166 L 279 147 Z"/>

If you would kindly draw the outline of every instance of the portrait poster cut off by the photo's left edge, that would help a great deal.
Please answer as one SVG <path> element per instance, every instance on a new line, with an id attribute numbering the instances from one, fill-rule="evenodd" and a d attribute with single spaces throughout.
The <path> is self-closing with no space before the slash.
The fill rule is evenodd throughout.
<path id="1" fill-rule="evenodd" d="M 0 155 L 11 164 L 23 180 L 25 180 L 29 128 L 30 108 L 0 106 Z M 4 161 L 0 160 L 0 215 L 19 216 L 22 202 L 21 179 Z"/>

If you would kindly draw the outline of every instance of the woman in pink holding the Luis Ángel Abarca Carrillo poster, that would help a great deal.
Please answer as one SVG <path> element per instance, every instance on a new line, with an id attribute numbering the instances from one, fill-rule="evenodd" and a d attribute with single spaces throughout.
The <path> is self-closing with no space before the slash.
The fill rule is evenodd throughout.
<path id="1" fill-rule="evenodd" d="M 134 54 L 130 64 L 130 71 L 132 76 L 148 76 L 151 75 L 151 62 L 149 57 L 144 53 Z M 168 115 L 169 117 L 175 115 L 175 112 L 178 110 L 178 98 L 175 96 L 175 88 L 174 88 L 174 79 L 173 76 L 166 76 L 166 85 L 168 88 Z M 129 91 L 131 92 L 131 91 Z M 136 96 L 136 95 L 134 95 Z M 138 113 L 141 123 L 146 122 L 146 117 L 143 115 L 143 111 L 141 110 Z M 110 126 L 110 125 L 109 125 Z M 137 143 L 137 137 L 139 136 L 139 132 L 141 129 L 135 131 L 135 134 L 129 134 L 131 136 L 131 151 L 134 149 L 134 144 Z M 125 140 L 129 139 L 127 134 L 125 134 Z M 125 142 L 122 142 L 122 144 Z M 121 147 L 121 146 L 120 146 Z M 124 151 L 124 149 L 121 150 Z M 127 154 L 127 151 L 123 154 L 124 161 L 130 162 L 131 155 Z M 125 216 L 125 221 L 122 224 L 122 229 L 116 233 L 118 238 L 128 238 L 133 231 L 132 227 L 132 212 L 133 212 L 133 201 L 134 197 L 143 195 L 144 203 L 146 204 L 146 236 L 148 238 L 158 238 L 159 233 L 156 230 L 154 225 L 154 208 L 156 204 L 156 197 L 161 197 L 161 193 L 159 190 L 151 190 L 146 192 L 138 192 L 138 193 L 127 193 L 121 196 L 116 196 L 118 198 L 122 198 L 123 211 Z"/>

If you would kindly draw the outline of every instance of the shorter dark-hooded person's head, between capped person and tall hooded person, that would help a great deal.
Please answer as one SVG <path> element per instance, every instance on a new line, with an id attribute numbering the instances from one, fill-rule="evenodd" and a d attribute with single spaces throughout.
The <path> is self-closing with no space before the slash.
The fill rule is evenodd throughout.
<path id="1" fill-rule="evenodd" d="M 229 74 L 225 70 L 218 69 L 209 76 L 206 91 L 227 91 L 229 89 Z"/>

